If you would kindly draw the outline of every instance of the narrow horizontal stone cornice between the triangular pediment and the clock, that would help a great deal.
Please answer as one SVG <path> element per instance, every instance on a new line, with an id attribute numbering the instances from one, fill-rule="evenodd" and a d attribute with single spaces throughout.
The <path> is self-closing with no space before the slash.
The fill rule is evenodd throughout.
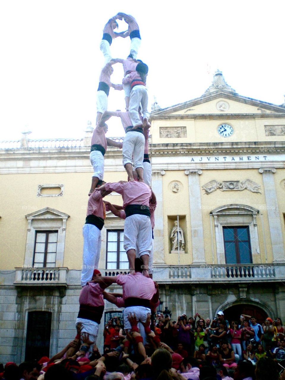
<path id="1" fill-rule="evenodd" d="M 285 113 L 272 114 L 151 114 L 150 120 L 242 120 L 242 119 L 285 119 Z"/>

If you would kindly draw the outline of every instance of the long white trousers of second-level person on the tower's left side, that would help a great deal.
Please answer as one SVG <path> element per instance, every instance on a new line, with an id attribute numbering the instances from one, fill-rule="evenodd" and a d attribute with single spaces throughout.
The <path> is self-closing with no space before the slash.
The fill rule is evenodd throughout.
<path id="1" fill-rule="evenodd" d="M 98 269 L 101 250 L 101 230 L 93 224 L 85 224 L 83 233 L 83 264 L 81 286 L 92 280 L 94 269 Z"/>

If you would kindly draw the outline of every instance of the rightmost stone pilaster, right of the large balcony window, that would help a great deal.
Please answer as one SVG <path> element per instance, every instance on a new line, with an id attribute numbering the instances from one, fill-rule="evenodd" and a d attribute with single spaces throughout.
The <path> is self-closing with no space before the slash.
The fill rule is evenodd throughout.
<path id="1" fill-rule="evenodd" d="M 265 189 L 266 209 L 269 221 L 269 230 L 273 252 L 273 263 L 284 263 L 285 253 L 282 237 L 282 228 L 277 203 L 275 183 L 273 178 L 273 173 L 275 172 L 275 168 L 259 169 L 259 173 L 262 173 L 263 184 Z"/>

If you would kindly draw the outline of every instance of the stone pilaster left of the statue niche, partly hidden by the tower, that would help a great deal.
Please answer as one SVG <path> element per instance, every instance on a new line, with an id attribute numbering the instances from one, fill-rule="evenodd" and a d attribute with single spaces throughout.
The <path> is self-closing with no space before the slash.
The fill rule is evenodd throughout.
<path id="1" fill-rule="evenodd" d="M 164 261 L 164 233 L 163 233 L 163 199 L 162 199 L 162 176 L 165 171 L 153 171 L 151 175 L 151 188 L 156 195 L 157 206 L 154 211 L 154 249 L 153 264 L 165 264 Z"/>

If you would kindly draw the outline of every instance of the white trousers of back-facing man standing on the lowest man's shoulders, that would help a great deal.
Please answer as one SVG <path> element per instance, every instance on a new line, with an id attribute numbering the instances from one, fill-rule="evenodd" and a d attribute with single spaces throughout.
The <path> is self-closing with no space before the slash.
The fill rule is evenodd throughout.
<path id="1" fill-rule="evenodd" d="M 126 252 L 129 249 L 134 249 L 135 251 L 139 251 L 138 257 L 143 255 L 150 256 L 151 245 L 152 230 L 150 217 L 139 214 L 128 216 L 124 226 L 124 249 Z"/>

